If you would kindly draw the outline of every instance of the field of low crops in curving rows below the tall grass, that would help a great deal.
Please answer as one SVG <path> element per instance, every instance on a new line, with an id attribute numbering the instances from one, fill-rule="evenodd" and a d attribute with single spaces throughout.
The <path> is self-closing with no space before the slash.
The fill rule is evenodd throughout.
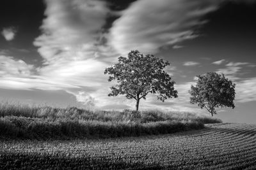
<path id="1" fill-rule="evenodd" d="M 1 141 L 0 169 L 256 169 L 256 125 L 159 136 Z"/>

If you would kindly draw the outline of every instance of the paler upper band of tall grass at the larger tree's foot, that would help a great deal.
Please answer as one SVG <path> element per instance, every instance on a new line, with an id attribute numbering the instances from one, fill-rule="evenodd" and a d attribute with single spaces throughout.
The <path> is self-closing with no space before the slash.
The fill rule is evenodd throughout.
<path id="1" fill-rule="evenodd" d="M 51 106 L 30 106 L 20 103 L 0 103 L 0 117 L 15 116 L 28 118 L 68 118 L 79 120 L 97 120 L 100 122 L 137 121 L 141 123 L 159 122 L 164 120 L 189 120 L 204 124 L 220 123 L 218 118 L 206 115 L 198 115 L 189 112 L 162 112 L 157 110 L 148 111 L 101 111 L 84 110 L 76 107 L 53 108 Z"/>

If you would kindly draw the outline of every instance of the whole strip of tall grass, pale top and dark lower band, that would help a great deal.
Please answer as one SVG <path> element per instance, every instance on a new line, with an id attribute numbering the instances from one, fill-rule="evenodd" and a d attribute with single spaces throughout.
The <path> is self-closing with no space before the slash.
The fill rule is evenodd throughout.
<path id="1" fill-rule="evenodd" d="M 0 103 L 1 139 L 114 138 L 200 129 L 221 120 L 194 113 L 92 111 Z"/>

